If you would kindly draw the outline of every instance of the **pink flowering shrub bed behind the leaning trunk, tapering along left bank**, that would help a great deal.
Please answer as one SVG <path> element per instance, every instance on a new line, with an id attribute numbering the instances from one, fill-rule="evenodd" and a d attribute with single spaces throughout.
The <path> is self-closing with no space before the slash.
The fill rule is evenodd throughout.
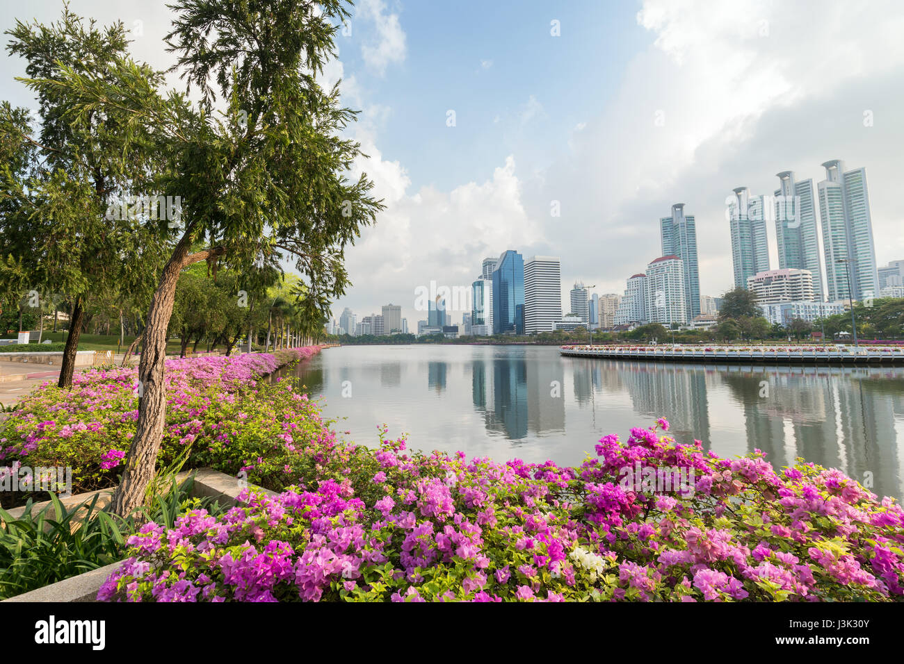
<path id="1" fill-rule="evenodd" d="M 220 435 L 214 423 L 225 421 L 237 400 L 254 398 L 266 385 L 263 376 L 319 350 L 166 360 L 161 463 L 199 439 L 199 447 L 213 443 Z M 0 473 L 17 463 L 69 466 L 75 493 L 112 486 L 135 435 L 138 392 L 137 369 L 89 369 L 73 377 L 71 390 L 44 383 L 0 423 L 0 462 L 9 466 Z M 24 503 L 28 495 L 11 498 Z"/>

